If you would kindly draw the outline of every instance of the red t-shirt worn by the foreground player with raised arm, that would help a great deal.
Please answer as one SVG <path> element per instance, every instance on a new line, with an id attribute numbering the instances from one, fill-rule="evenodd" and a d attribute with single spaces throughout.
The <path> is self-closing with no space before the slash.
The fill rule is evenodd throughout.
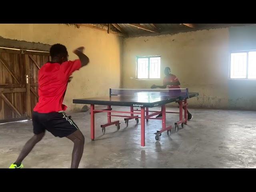
<path id="1" fill-rule="evenodd" d="M 50 113 L 64 111 L 67 106 L 62 104 L 70 75 L 81 68 L 80 60 L 59 63 L 46 63 L 38 74 L 39 101 L 34 111 Z"/>

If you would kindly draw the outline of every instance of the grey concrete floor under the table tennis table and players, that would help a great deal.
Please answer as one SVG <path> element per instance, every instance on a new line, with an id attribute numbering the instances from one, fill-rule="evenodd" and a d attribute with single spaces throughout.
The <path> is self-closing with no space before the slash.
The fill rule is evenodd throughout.
<path id="1" fill-rule="evenodd" d="M 126 107 L 114 109 L 129 110 Z M 169 109 L 170 110 L 170 109 Z M 172 108 L 178 111 L 178 108 Z M 146 146 L 140 146 L 140 122 L 130 120 L 120 130 L 100 124 L 106 113 L 96 114 L 96 140 L 90 140 L 89 112 L 71 114 L 86 138 L 80 168 L 256 168 L 256 112 L 190 109 L 194 118 L 180 129 L 164 132 L 156 142 L 154 132 L 161 121 L 150 120 L 146 126 Z M 177 114 L 168 114 L 167 124 L 174 125 Z M 0 168 L 13 163 L 25 142 L 33 135 L 32 122 L 0 125 Z M 49 132 L 24 160 L 26 168 L 69 168 L 73 144 L 55 138 Z"/>

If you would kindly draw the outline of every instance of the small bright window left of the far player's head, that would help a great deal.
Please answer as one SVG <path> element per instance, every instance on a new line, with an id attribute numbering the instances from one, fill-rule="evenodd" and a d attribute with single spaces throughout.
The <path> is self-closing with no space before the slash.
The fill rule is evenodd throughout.
<path id="1" fill-rule="evenodd" d="M 137 79 L 160 79 L 160 56 L 137 57 Z"/>

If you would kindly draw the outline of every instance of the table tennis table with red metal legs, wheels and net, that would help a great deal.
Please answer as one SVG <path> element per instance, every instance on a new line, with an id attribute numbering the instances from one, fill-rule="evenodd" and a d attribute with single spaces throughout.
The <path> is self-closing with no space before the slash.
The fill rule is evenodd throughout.
<path id="1" fill-rule="evenodd" d="M 120 129 L 120 122 L 112 121 L 111 117 L 124 117 L 126 126 L 128 126 L 128 121 L 135 119 L 138 124 L 139 118 L 141 121 L 141 146 L 145 146 L 145 120 L 148 122 L 150 119 L 162 120 L 162 128 L 156 130 L 154 133 L 155 139 L 160 140 L 162 132 L 167 131 L 170 135 L 172 126 L 166 126 L 166 113 L 179 114 L 179 120 L 175 122 L 175 130 L 178 132 L 179 125 L 182 128 L 184 124 L 187 124 L 187 108 L 189 98 L 198 96 L 199 93 L 192 92 L 189 93 L 188 89 L 110 89 L 109 96 L 94 97 L 94 98 L 82 98 L 74 99 L 74 104 L 90 104 L 90 119 L 91 119 L 91 140 L 95 139 L 95 114 L 100 112 L 107 113 L 108 123 L 102 124 L 102 133 L 105 134 L 106 127 L 111 125 L 116 125 L 117 130 Z M 167 112 L 166 104 L 176 102 L 178 103 L 179 112 Z M 106 109 L 98 110 L 95 109 L 95 105 L 107 106 Z M 116 111 L 112 110 L 111 106 L 130 106 L 130 111 Z M 149 110 L 156 106 L 161 106 L 161 111 Z M 137 109 L 134 109 L 137 107 Z M 140 109 L 138 109 L 140 108 Z M 184 109 L 184 117 L 183 117 Z M 113 115 L 114 114 L 128 114 L 128 115 Z M 162 117 L 154 117 L 158 114 L 162 114 Z M 140 115 L 140 116 L 139 116 Z"/>

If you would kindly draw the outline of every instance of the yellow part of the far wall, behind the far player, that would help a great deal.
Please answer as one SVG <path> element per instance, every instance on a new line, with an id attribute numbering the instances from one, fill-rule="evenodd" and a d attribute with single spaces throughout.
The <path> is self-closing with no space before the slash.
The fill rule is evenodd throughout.
<path id="1" fill-rule="evenodd" d="M 228 107 L 228 28 L 198 30 L 174 35 L 126 38 L 123 47 L 122 87 L 150 88 L 162 85 L 169 66 L 190 92 L 190 107 Z M 136 80 L 136 56 L 161 55 L 161 80 Z"/>

